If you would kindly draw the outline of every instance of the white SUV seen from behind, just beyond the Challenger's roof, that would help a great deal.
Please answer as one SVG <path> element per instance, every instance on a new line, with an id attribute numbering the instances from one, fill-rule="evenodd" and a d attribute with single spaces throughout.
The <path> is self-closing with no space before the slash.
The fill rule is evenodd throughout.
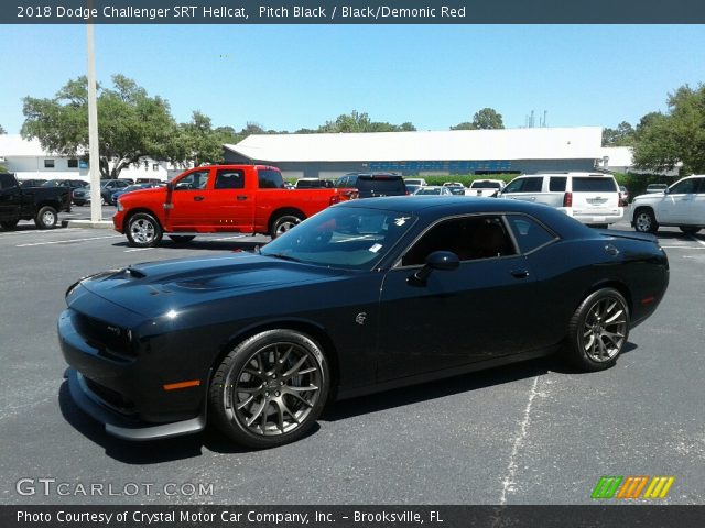
<path id="1" fill-rule="evenodd" d="M 522 175 L 499 197 L 545 204 L 589 226 L 607 227 L 625 213 L 615 177 L 601 173 Z"/>

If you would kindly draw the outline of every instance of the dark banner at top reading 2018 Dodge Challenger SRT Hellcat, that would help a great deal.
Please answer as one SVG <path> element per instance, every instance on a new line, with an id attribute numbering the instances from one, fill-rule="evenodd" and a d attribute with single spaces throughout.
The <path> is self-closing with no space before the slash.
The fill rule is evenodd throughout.
<path id="1" fill-rule="evenodd" d="M 702 0 L 15 0 L 2 24 L 695 24 Z"/>

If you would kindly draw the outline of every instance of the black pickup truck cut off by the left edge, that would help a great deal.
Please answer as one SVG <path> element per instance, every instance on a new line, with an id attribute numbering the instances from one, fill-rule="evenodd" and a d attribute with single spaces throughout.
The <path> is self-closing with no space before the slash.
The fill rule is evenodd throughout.
<path id="1" fill-rule="evenodd" d="M 0 226 L 32 220 L 40 229 L 56 226 L 58 212 L 70 212 L 69 187 L 20 187 L 13 174 L 0 173 Z"/>

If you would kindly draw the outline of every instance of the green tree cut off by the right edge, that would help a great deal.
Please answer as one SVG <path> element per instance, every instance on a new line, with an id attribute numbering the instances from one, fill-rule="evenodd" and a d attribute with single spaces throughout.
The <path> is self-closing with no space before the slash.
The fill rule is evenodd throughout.
<path id="1" fill-rule="evenodd" d="M 661 172 L 683 163 L 684 173 L 705 173 L 705 85 L 669 95 L 665 114 L 652 112 L 637 127 L 634 166 Z"/>

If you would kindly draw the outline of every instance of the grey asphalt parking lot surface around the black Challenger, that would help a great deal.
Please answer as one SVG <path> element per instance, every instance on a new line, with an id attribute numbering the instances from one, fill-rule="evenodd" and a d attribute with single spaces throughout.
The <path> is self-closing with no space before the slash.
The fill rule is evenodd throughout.
<path id="1" fill-rule="evenodd" d="M 705 235 L 659 238 L 669 292 L 616 367 L 581 374 L 547 359 L 343 402 L 303 440 L 248 451 L 214 430 L 107 436 L 68 397 L 55 323 L 88 273 L 264 240 L 137 250 L 111 230 L 21 222 L 0 232 L 0 504 L 590 504 L 603 475 L 674 476 L 659 504 L 705 504 Z M 22 479 L 34 483 L 24 494 Z"/>

